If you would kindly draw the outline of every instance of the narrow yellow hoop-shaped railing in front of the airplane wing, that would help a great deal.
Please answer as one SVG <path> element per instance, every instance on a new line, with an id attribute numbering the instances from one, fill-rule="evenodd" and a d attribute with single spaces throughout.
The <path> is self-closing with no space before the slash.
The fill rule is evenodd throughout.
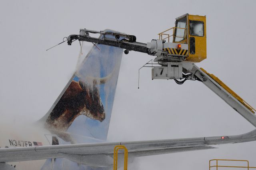
<path id="1" fill-rule="evenodd" d="M 113 164 L 113 170 L 117 170 L 117 162 L 118 162 L 118 150 L 123 149 L 124 150 L 124 170 L 127 170 L 127 164 L 128 164 L 128 150 L 124 145 L 117 145 L 114 147 L 114 164 Z"/>

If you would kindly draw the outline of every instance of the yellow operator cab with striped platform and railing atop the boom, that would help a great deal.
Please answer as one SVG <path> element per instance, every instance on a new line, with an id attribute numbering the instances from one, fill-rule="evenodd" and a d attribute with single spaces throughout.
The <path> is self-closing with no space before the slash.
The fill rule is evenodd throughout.
<path id="1" fill-rule="evenodd" d="M 170 30 L 173 30 L 173 35 L 168 34 Z M 170 55 L 185 56 L 184 61 L 188 62 L 206 59 L 206 16 L 184 14 L 176 18 L 175 27 L 158 35 L 160 40 L 169 40 L 173 36 L 172 43 L 178 44 L 176 48 L 164 49 Z M 183 46 L 187 52 L 179 52 Z"/>

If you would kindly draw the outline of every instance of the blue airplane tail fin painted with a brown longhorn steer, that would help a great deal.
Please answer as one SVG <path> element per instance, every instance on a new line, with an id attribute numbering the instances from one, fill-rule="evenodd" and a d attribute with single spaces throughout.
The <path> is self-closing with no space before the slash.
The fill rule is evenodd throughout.
<path id="1" fill-rule="evenodd" d="M 122 52 L 123 49 L 112 46 L 93 46 L 41 119 L 44 126 L 106 140 Z"/>

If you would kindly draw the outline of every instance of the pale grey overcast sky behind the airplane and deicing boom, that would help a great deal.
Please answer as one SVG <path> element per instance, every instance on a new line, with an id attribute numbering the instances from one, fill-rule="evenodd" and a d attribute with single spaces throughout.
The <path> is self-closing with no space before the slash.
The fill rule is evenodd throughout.
<path id="1" fill-rule="evenodd" d="M 72 76 L 79 54 L 78 42 L 45 51 L 64 36 L 78 34 L 80 28 L 110 28 L 146 43 L 186 13 L 207 17 L 208 58 L 197 65 L 255 108 L 255 8 L 253 0 L 1 0 L 1 122 L 35 121 L 52 106 Z M 138 89 L 138 68 L 150 59 L 138 52 L 123 56 L 109 141 L 221 136 L 254 129 L 200 82 L 178 85 L 172 80 L 151 80 L 150 69 L 144 68 Z M 206 170 L 212 158 L 246 159 L 256 166 L 255 144 L 138 158 L 133 168 Z"/>

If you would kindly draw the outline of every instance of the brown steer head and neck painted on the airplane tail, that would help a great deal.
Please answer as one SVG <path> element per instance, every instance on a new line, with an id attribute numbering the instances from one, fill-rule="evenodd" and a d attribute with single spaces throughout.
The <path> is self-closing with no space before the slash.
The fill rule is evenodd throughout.
<path id="1" fill-rule="evenodd" d="M 90 85 L 72 80 L 55 108 L 48 116 L 45 126 L 66 131 L 76 117 L 85 115 L 102 122 L 105 111 L 96 84 Z"/>

